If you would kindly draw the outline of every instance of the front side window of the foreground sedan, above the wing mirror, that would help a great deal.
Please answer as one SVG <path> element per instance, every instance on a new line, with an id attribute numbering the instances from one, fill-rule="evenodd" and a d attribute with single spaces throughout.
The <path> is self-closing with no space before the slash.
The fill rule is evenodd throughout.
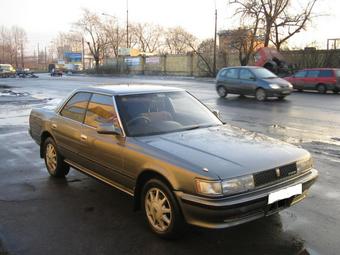
<path id="1" fill-rule="evenodd" d="M 93 94 L 84 123 L 94 128 L 97 128 L 99 124 L 115 124 L 118 126 L 112 96 Z"/>

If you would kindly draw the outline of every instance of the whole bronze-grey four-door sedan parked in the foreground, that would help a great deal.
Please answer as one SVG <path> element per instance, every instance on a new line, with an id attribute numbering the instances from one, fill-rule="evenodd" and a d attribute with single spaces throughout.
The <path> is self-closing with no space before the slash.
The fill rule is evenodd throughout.
<path id="1" fill-rule="evenodd" d="M 223 124 L 177 88 L 78 89 L 29 124 L 50 175 L 71 166 L 126 192 L 162 237 L 185 222 L 225 228 L 277 213 L 318 176 L 306 150 Z"/>

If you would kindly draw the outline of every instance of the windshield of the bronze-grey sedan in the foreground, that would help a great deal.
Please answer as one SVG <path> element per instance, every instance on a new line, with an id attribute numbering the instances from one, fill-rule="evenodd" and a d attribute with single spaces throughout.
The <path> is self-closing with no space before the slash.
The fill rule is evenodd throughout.
<path id="1" fill-rule="evenodd" d="M 221 125 L 203 104 L 185 91 L 116 97 L 128 136 L 148 136 Z"/>

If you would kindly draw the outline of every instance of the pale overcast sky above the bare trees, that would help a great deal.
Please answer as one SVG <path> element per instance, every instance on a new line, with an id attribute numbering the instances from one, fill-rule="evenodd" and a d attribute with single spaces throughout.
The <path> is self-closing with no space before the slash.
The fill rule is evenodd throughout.
<path id="1" fill-rule="evenodd" d="M 299 9 L 308 0 L 294 0 Z M 239 26 L 239 20 L 232 18 L 235 5 L 230 0 L 216 0 L 218 29 L 232 29 Z M 58 32 L 71 29 L 72 23 L 81 15 L 82 8 L 98 13 L 108 13 L 126 24 L 126 0 L 13 0 L 1 1 L 0 25 L 24 28 L 32 50 L 48 46 Z M 214 0 L 128 0 L 131 22 L 150 22 L 166 27 L 182 26 L 197 37 L 213 37 Z M 313 20 L 308 31 L 293 37 L 292 47 L 309 46 L 316 41 L 325 47 L 327 38 L 340 37 L 340 1 L 318 0 L 314 11 L 322 16 Z"/>

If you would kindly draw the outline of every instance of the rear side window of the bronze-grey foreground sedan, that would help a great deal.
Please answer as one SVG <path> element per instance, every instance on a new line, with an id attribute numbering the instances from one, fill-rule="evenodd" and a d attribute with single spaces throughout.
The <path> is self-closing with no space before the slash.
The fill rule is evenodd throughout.
<path id="1" fill-rule="evenodd" d="M 91 94 L 79 92 L 75 94 L 61 110 L 60 115 L 75 121 L 83 122 L 87 104 Z"/>

